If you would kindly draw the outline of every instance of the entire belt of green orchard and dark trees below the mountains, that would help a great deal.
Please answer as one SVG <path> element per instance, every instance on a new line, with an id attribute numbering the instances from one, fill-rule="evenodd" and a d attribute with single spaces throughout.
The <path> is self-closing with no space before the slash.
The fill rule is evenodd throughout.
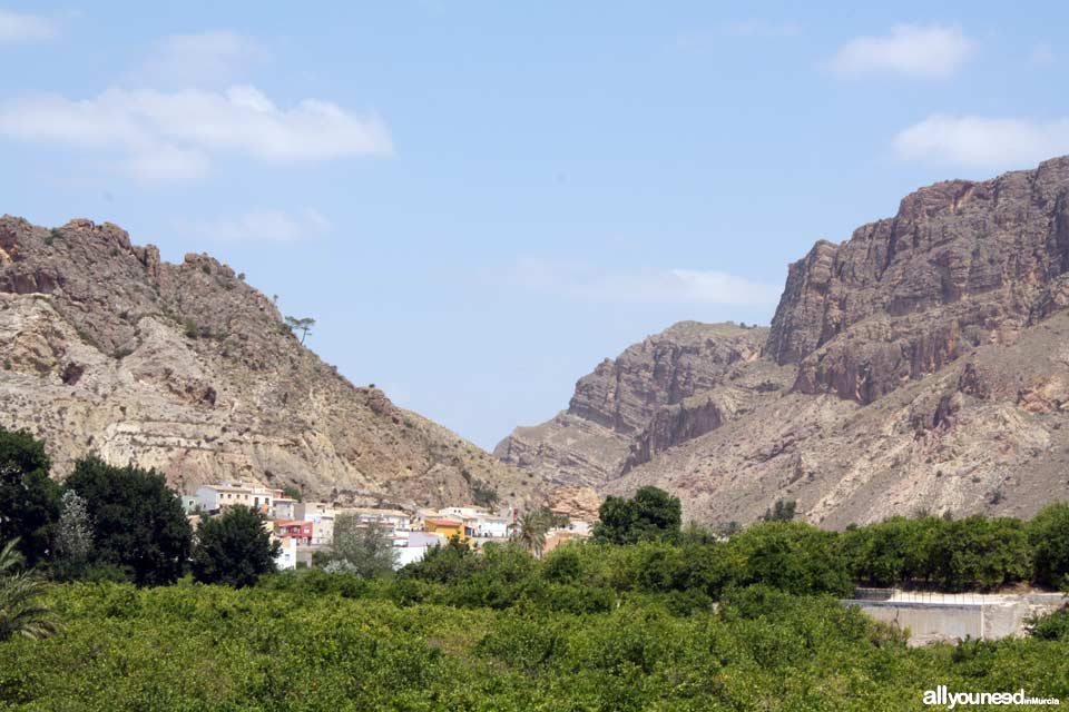
<path id="1" fill-rule="evenodd" d="M 648 487 L 610 497 L 594 542 L 537 558 L 551 520 L 532 513 L 513 543 L 454 538 L 398 573 L 343 517 L 333 564 L 369 565 L 269 573 L 262 517 L 234 507 L 192 550 L 220 586 L 179 580 L 190 532 L 161 475 L 90 457 L 60 490 L 39 445 L 0 433 L 0 503 L 28 505 L 0 525 L 36 537 L 39 565 L 0 553 L 0 710 L 880 712 L 921 709 L 936 684 L 1069 699 L 1069 612 L 1027 640 L 909 649 L 836 601 L 855 582 L 1065 587 L 1066 504 L 843 533 L 784 504 L 741 531 L 680 531 L 679 501 Z"/>

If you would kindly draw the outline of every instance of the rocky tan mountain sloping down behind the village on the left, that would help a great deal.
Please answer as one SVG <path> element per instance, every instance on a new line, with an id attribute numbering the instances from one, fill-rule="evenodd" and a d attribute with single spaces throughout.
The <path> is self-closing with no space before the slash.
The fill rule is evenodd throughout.
<path id="1" fill-rule="evenodd" d="M 0 425 L 59 475 L 95 452 L 183 490 L 296 485 L 364 504 L 532 501 L 534 479 L 374 387 L 356 387 L 274 303 L 206 255 L 179 265 L 115 225 L 0 218 Z"/>

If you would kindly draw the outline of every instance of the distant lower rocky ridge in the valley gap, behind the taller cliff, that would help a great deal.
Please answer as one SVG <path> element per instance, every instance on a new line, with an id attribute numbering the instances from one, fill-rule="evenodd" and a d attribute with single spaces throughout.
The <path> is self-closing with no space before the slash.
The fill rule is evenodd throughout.
<path id="1" fill-rule="evenodd" d="M 576 384 L 567 411 L 518 427 L 494 455 L 556 484 L 599 487 L 790 385 L 757 360 L 767 329 L 681 322 Z M 769 372 L 769 373 L 766 373 Z"/>

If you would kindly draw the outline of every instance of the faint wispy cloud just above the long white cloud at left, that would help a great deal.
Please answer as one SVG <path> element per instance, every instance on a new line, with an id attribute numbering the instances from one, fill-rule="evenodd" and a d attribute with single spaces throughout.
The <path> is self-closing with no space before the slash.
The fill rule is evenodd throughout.
<path id="1" fill-rule="evenodd" d="M 138 83 L 164 87 L 223 87 L 251 65 L 267 58 L 252 38 L 227 30 L 174 34 L 156 44 L 154 55 L 133 75 Z"/>

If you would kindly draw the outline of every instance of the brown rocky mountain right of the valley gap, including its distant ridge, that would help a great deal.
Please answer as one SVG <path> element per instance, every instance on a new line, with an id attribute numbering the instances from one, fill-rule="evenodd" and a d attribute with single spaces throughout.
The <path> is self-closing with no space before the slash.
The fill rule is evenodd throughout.
<path id="1" fill-rule="evenodd" d="M 1069 158 L 936 184 L 792 265 L 771 329 L 674 326 L 494 454 L 705 522 L 1029 515 L 1069 498 L 1067 306 Z"/>

